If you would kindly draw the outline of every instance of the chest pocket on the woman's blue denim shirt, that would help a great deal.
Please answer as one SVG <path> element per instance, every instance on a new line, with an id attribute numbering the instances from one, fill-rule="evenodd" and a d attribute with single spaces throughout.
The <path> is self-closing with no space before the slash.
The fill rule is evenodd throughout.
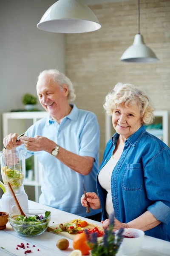
<path id="1" fill-rule="evenodd" d="M 142 163 L 127 163 L 122 175 L 124 190 L 141 190 L 144 186 Z"/>

